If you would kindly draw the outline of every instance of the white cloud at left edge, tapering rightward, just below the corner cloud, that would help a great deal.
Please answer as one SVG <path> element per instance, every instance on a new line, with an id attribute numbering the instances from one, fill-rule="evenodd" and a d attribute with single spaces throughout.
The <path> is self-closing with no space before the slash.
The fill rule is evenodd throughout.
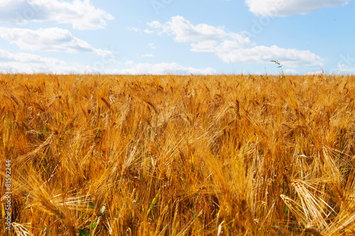
<path id="1" fill-rule="evenodd" d="M 43 52 L 91 52 L 99 56 L 111 55 L 111 52 L 96 49 L 89 43 L 74 37 L 69 30 L 61 28 L 24 28 L 0 27 L 0 37 L 18 45 L 22 50 Z"/>

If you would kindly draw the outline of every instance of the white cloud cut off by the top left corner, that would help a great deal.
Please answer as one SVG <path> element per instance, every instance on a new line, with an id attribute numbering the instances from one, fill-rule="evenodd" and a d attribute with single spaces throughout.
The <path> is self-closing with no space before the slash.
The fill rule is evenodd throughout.
<path id="1" fill-rule="evenodd" d="M 59 0 L 2 0 L 0 1 L 0 21 L 18 27 L 31 21 L 55 21 L 72 24 L 77 30 L 95 30 L 107 26 L 114 17 L 102 9 L 97 9 L 89 0 L 72 2 Z"/>

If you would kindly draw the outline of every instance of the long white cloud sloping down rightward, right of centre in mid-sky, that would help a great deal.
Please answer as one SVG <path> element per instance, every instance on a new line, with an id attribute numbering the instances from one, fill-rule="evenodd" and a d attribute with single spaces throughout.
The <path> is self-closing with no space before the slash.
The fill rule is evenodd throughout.
<path id="1" fill-rule="evenodd" d="M 308 50 L 286 49 L 272 45 L 258 46 L 242 33 L 227 32 L 224 27 L 207 24 L 192 25 L 182 16 L 175 16 L 167 23 L 148 23 L 152 32 L 174 37 L 175 42 L 190 43 L 192 52 L 213 52 L 222 62 L 269 63 L 279 60 L 288 67 L 315 67 L 323 65 L 323 59 Z"/>

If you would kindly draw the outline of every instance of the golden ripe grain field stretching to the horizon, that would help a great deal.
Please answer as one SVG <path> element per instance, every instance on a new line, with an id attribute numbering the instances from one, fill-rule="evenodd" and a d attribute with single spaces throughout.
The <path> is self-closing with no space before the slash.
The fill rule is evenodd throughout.
<path id="1" fill-rule="evenodd" d="M 1 235 L 354 235 L 355 77 L 0 74 Z"/>

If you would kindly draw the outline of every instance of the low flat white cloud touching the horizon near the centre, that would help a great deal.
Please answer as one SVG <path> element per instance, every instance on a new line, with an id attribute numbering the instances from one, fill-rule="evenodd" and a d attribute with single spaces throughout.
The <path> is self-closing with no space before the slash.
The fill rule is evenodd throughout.
<path id="1" fill-rule="evenodd" d="M 216 70 L 210 67 L 196 69 L 192 67 L 183 67 L 177 63 L 141 63 L 135 64 L 132 61 L 126 62 L 131 66 L 128 69 L 119 70 L 119 74 L 215 74 Z"/>

